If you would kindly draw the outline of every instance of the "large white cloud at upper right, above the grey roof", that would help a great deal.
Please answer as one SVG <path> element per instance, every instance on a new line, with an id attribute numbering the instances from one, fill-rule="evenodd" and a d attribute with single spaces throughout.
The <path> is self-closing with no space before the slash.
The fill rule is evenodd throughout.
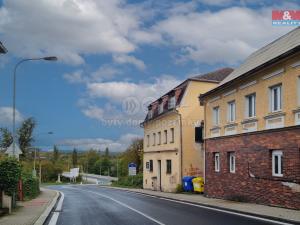
<path id="1" fill-rule="evenodd" d="M 236 64 L 293 27 L 272 27 L 271 8 L 173 13 L 153 28 L 181 48 L 179 61 Z"/>

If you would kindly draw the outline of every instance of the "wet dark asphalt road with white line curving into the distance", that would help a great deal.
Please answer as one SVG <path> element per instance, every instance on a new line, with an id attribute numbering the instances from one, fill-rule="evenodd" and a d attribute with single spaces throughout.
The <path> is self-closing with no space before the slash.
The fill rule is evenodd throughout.
<path id="1" fill-rule="evenodd" d="M 52 189 L 64 193 L 58 225 L 284 224 L 96 185 L 55 186 Z"/>

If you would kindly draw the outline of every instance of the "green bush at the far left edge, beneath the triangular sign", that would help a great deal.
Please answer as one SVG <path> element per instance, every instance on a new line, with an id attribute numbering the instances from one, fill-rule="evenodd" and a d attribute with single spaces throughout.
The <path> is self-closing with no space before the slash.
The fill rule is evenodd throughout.
<path id="1" fill-rule="evenodd" d="M 0 161 L 0 189 L 14 196 L 18 191 L 21 177 L 21 164 L 16 158 L 5 157 Z"/>

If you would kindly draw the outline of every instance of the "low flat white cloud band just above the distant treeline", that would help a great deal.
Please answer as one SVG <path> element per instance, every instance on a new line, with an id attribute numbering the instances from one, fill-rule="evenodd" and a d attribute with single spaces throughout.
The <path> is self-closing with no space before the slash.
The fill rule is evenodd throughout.
<path id="1" fill-rule="evenodd" d="M 81 150 L 104 150 L 106 147 L 112 152 L 120 152 L 126 150 L 130 143 L 137 138 L 141 138 L 137 134 L 124 134 L 118 140 L 104 139 L 104 138 L 80 138 L 80 139 L 66 139 L 59 141 L 57 144 L 62 146 L 75 147 Z"/>

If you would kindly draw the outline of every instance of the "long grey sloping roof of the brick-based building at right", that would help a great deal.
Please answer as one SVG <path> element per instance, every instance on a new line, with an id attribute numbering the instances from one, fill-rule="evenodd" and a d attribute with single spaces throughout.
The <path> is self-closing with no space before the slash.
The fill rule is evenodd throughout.
<path id="1" fill-rule="evenodd" d="M 201 97 L 206 97 L 209 94 L 220 90 L 225 85 L 237 78 L 241 78 L 244 75 L 249 75 L 261 67 L 267 65 L 268 63 L 274 62 L 276 59 L 284 57 L 287 53 L 297 50 L 300 47 L 300 27 L 295 28 L 289 33 L 281 36 L 275 41 L 269 43 L 263 48 L 252 53 L 246 60 L 236 68 L 229 76 L 227 76 L 219 85 L 201 95 Z"/>

